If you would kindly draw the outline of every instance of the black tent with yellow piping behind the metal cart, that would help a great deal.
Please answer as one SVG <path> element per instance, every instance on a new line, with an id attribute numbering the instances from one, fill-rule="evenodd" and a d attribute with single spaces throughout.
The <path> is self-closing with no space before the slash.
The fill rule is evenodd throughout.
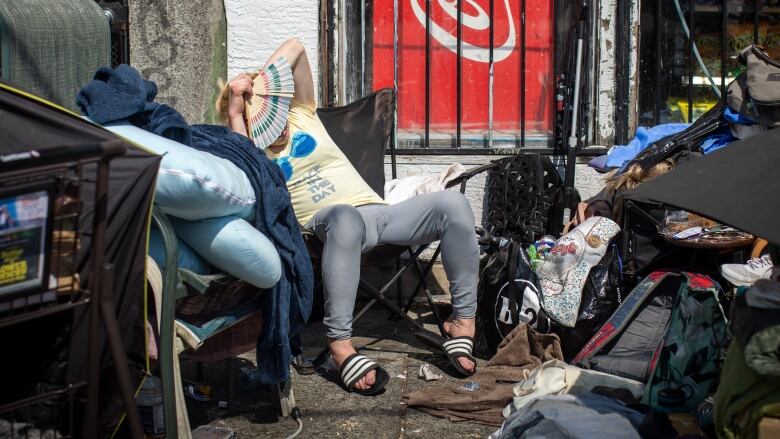
<path id="1" fill-rule="evenodd" d="M 0 81 L 0 155 L 117 139 L 68 110 Z M 160 156 L 128 145 L 126 154 L 110 165 L 104 261 L 115 267 L 112 297 L 133 386 L 140 383 L 147 367 L 144 267 L 159 162 Z M 90 166 L 85 170 L 87 178 L 96 173 L 97 167 Z M 80 190 L 84 205 L 77 267 L 83 286 L 90 274 L 89 227 L 94 214 L 94 186 Z M 93 193 L 87 193 L 90 191 Z M 0 328 L 4 371 L 0 406 L 41 389 L 86 380 L 89 325 L 85 311 L 76 308 L 73 312 Z M 105 337 L 101 342 L 99 435 L 105 437 L 111 435 L 124 408 Z M 78 415 L 74 418 L 80 421 Z"/>

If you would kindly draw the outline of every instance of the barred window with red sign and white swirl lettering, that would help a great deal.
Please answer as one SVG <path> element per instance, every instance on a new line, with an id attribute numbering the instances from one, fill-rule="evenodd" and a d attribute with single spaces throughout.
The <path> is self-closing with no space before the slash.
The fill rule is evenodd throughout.
<path id="1" fill-rule="evenodd" d="M 322 11 L 324 101 L 343 105 L 395 88 L 406 154 L 552 150 L 576 22 L 570 3 L 330 0 Z"/>

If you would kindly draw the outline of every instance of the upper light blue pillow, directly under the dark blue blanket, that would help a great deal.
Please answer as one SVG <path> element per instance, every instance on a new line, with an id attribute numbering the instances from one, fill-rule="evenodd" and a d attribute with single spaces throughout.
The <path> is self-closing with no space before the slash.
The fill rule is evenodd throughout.
<path id="1" fill-rule="evenodd" d="M 163 212 L 187 220 L 226 215 L 251 219 L 254 215 L 252 185 L 229 160 L 126 122 L 105 128 L 163 156 L 154 198 Z"/>

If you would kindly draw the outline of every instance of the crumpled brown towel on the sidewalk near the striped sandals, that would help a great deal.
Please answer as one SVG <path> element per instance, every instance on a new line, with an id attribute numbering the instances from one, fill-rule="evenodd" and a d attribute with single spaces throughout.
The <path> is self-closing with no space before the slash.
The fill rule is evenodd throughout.
<path id="1" fill-rule="evenodd" d="M 512 386 L 523 379 L 523 370 L 552 360 L 563 360 L 557 335 L 539 334 L 525 323 L 517 326 L 498 346 L 498 352 L 471 377 L 442 383 L 403 395 L 406 404 L 450 421 L 476 421 L 500 426 L 501 410 L 512 400 Z M 462 386 L 479 383 L 479 390 Z"/>

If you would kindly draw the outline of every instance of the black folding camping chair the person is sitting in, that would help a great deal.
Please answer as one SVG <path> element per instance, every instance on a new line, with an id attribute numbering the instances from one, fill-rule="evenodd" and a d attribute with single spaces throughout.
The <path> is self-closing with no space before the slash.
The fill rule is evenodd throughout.
<path id="1" fill-rule="evenodd" d="M 390 152 L 390 170 L 393 178 L 396 178 L 396 160 L 394 135 L 394 110 L 396 94 L 393 89 L 378 90 L 351 104 L 336 108 L 318 108 L 319 116 L 331 139 L 339 146 L 347 156 L 361 177 L 377 193 L 384 194 L 385 186 L 385 153 Z M 355 141 L 359 139 L 359 141 Z M 460 185 L 462 193 L 466 190 L 466 183 L 471 177 L 492 168 L 488 164 L 470 169 L 458 178 L 449 182 L 447 187 Z M 312 257 L 314 267 L 319 267 L 322 257 L 323 243 L 311 231 L 303 231 L 309 255 Z M 353 323 L 357 323 L 368 310 L 377 302 L 384 306 L 394 318 L 409 322 L 416 331 L 427 332 L 423 325 L 408 315 L 420 291 L 425 294 L 431 307 L 436 324 L 442 337 L 444 332 L 444 319 L 439 314 L 434 304 L 433 296 L 425 282 L 436 259 L 439 256 L 437 248 L 430 261 L 423 264 L 419 260 L 420 254 L 426 249 L 421 246 L 417 249 L 397 245 L 380 245 L 364 253 L 361 258 L 361 267 L 377 266 L 387 263 L 395 263 L 395 273 L 383 285 L 376 287 L 365 279 L 360 279 L 358 289 L 365 293 L 369 302 L 353 317 Z M 401 256 L 408 255 L 406 261 L 401 264 Z M 316 269 L 316 268 L 315 268 Z M 401 275 L 412 269 L 418 276 L 414 293 L 408 298 L 405 305 L 402 302 L 400 282 Z M 397 301 L 394 303 L 386 294 L 393 285 L 397 286 Z M 294 365 L 299 373 L 309 374 L 314 372 L 314 366 L 324 361 L 328 353 L 327 347 L 313 360 L 298 356 Z"/>

